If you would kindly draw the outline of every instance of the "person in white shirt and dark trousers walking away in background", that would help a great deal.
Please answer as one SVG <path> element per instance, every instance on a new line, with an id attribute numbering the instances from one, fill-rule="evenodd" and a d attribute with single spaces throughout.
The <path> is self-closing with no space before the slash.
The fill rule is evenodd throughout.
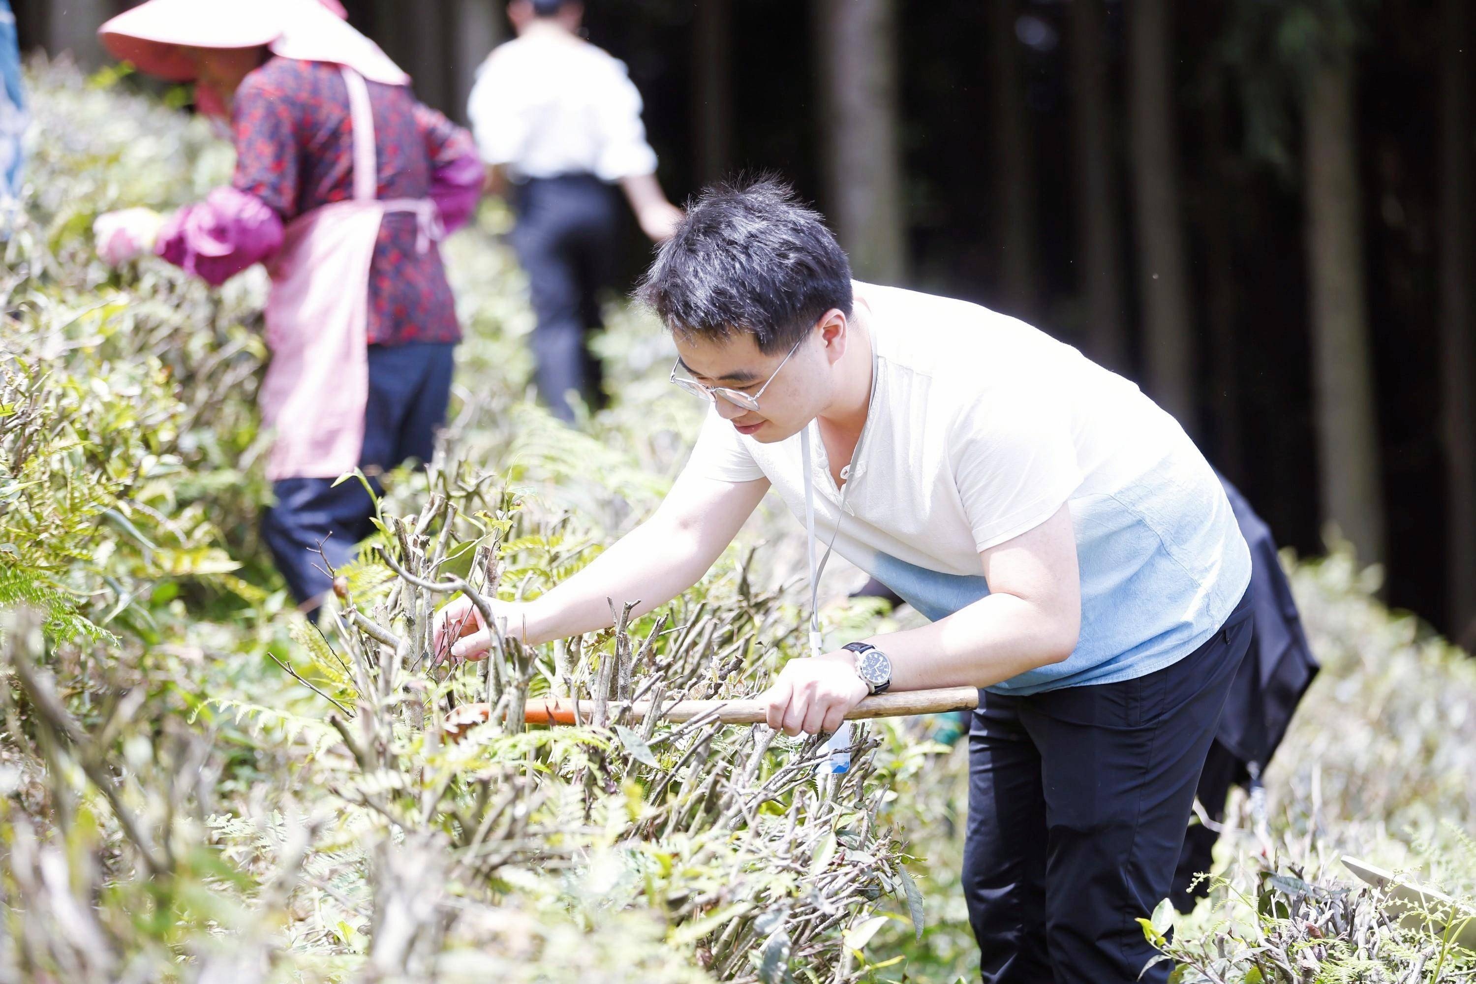
<path id="1" fill-rule="evenodd" d="M 570 0 L 512 0 L 518 37 L 487 56 L 468 103 L 489 189 L 511 192 L 518 214 L 512 242 L 537 314 L 539 395 L 565 420 L 574 419 L 570 391 L 604 403 L 584 342 L 601 325 L 598 292 L 617 248 L 611 186 L 655 242 L 682 218 L 655 177 L 641 93 L 624 63 L 579 37 L 583 13 Z"/>

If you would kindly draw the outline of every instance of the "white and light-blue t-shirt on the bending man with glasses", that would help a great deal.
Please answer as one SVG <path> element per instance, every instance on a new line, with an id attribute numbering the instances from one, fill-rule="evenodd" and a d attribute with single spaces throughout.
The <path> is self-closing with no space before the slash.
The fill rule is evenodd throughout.
<path id="1" fill-rule="evenodd" d="M 989 593 L 980 552 L 1070 505 L 1082 627 L 1063 662 L 990 690 L 1131 680 L 1204 643 L 1250 584 L 1250 550 L 1213 469 L 1138 387 L 977 304 L 856 285 L 871 308 L 874 391 L 835 552 L 931 620 Z M 841 493 L 815 450 L 815 522 Z M 800 435 L 762 444 L 716 410 L 686 465 L 768 477 L 804 516 Z"/>

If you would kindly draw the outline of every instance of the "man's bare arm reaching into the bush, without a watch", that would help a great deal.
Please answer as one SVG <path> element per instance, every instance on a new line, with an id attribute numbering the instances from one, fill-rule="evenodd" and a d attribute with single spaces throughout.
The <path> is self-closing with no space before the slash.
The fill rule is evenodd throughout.
<path id="1" fill-rule="evenodd" d="M 506 618 L 508 634 L 530 645 L 608 628 L 608 599 L 639 600 L 633 614 L 644 615 L 701 580 L 768 490 L 768 478 L 725 482 L 683 471 L 655 513 L 589 567 L 531 602 L 496 602 L 494 612 Z M 475 658 L 490 648 L 475 609 L 456 599 L 437 612 L 437 654 L 462 623 L 477 631 L 456 640 L 450 655 Z"/>

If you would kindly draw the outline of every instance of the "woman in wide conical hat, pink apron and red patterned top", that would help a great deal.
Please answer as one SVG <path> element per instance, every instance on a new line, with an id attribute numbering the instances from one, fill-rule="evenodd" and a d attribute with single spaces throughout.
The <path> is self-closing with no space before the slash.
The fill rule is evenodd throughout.
<path id="1" fill-rule="evenodd" d="M 230 187 L 162 220 L 100 217 L 97 246 L 114 263 L 152 249 L 211 283 L 267 266 L 263 534 L 316 611 L 331 587 L 317 550 L 337 567 L 372 530 L 363 487 L 334 479 L 430 459 L 444 422 L 461 329 L 435 243 L 475 205 L 475 148 L 337 0 L 148 0 L 100 35 L 140 71 L 195 81 L 202 109 L 229 108 Z"/>

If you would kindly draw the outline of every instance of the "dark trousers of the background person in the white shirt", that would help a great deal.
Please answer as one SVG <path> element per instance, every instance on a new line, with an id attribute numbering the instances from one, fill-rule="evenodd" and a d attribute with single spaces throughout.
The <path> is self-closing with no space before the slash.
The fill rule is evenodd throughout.
<path id="1" fill-rule="evenodd" d="M 605 403 L 599 361 L 584 342 L 601 326 L 598 295 L 614 270 L 620 205 L 599 179 L 567 174 L 521 184 L 517 212 L 512 245 L 537 316 L 539 395 L 558 417 L 573 420 L 571 389 L 592 409 Z"/>

